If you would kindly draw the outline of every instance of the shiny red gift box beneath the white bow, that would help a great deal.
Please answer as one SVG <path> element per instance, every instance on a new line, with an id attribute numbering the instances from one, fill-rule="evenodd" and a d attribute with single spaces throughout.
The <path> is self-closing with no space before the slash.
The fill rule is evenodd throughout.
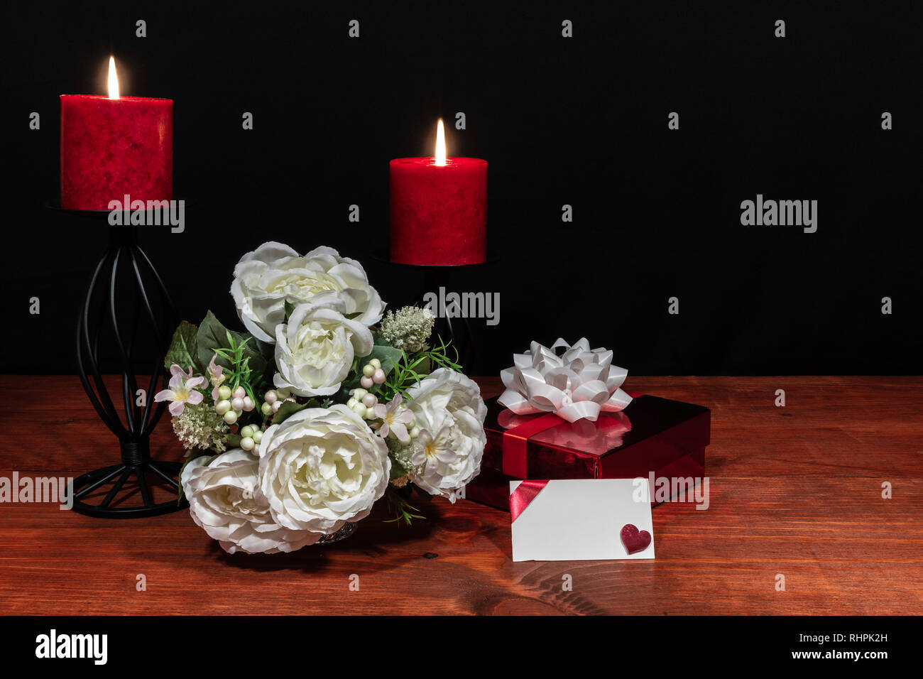
<path id="1" fill-rule="evenodd" d="M 712 411 L 704 406 L 641 394 L 620 412 L 571 424 L 552 413 L 515 415 L 497 398 L 485 404 L 481 472 L 464 490 L 475 502 L 509 511 L 509 481 L 517 479 L 650 479 L 653 473 L 654 479 L 698 481 L 704 476 L 712 422 Z M 652 488 L 651 502 L 662 501 Z"/>

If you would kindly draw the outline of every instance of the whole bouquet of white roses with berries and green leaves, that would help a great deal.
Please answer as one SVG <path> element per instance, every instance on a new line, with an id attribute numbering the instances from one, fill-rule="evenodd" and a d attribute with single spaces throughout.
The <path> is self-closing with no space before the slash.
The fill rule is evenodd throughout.
<path id="1" fill-rule="evenodd" d="M 477 476 L 484 401 L 428 309 L 385 313 L 358 261 L 274 242 L 237 263 L 231 294 L 246 332 L 183 321 L 155 396 L 193 520 L 224 550 L 293 552 L 382 497 L 410 523 L 409 485 L 455 502 Z"/>

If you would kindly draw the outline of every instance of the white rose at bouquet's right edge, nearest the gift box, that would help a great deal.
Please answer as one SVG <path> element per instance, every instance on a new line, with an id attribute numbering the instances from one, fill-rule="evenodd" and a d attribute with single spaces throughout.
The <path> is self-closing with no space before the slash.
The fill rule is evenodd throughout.
<path id="1" fill-rule="evenodd" d="M 421 430 L 414 442 L 411 480 L 454 503 L 455 491 L 481 470 L 487 443 L 481 390 L 462 373 L 440 368 L 408 389 L 407 399 Z"/>

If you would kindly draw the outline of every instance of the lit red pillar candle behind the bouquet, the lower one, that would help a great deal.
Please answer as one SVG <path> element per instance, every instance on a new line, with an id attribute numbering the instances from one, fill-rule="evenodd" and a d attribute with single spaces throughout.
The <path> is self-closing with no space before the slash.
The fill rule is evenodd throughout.
<path id="1" fill-rule="evenodd" d="M 477 264 L 487 259 L 487 162 L 437 155 L 390 163 L 390 255 L 402 264 Z M 440 148 L 441 140 L 441 148 Z"/>

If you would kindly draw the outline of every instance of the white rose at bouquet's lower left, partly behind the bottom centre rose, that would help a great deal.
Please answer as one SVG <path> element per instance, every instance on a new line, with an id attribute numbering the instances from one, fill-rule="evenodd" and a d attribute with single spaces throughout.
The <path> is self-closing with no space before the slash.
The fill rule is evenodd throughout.
<path id="1" fill-rule="evenodd" d="M 258 458 L 240 448 L 190 460 L 181 481 L 193 520 L 232 554 L 294 552 L 316 542 L 318 533 L 272 520 L 258 467 Z"/>

